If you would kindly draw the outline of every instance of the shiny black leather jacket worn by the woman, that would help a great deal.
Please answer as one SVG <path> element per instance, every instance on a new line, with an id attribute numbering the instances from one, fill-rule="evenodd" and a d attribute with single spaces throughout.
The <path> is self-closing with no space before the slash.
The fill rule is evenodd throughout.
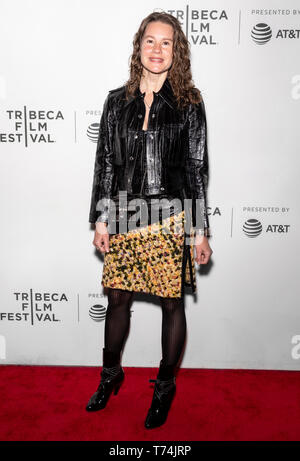
<path id="1" fill-rule="evenodd" d="M 190 199 L 192 226 L 210 235 L 204 102 L 179 110 L 166 78 L 161 89 L 154 92 L 148 129 L 143 131 L 144 95 L 138 88 L 126 100 L 124 85 L 109 91 L 106 97 L 100 119 L 89 222 L 108 223 L 114 205 L 118 222 L 124 211 L 119 191 L 125 191 L 128 201 L 142 198 L 148 207 L 153 199 L 177 198 L 181 203 Z M 103 199 L 107 207 L 98 211 L 97 203 Z M 126 213 L 129 219 L 128 210 Z M 148 223 L 150 214 L 149 211 Z"/>

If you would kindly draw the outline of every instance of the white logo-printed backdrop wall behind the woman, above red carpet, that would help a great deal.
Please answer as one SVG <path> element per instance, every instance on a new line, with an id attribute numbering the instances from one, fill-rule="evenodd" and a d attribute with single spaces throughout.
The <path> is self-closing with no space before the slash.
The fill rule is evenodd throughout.
<path id="1" fill-rule="evenodd" d="M 214 253 L 185 297 L 181 366 L 299 369 L 299 2 L 0 8 L 0 363 L 102 363 L 107 297 L 88 223 L 98 124 L 140 22 L 163 9 L 191 43 L 208 122 Z M 136 294 L 123 365 L 158 366 L 160 341 L 158 299 Z"/>

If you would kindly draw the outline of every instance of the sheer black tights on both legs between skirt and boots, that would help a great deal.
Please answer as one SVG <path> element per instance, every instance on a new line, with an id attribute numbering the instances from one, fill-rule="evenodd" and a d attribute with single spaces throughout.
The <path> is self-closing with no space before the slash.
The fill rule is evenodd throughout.
<path id="1" fill-rule="evenodd" d="M 121 352 L 130 325 L 133 291 L 108 288 L 105 319 L 105 348 Z M 185 341 L 186 318 L 183 298 L 160 297 L 162 307 L 162 359 L 165 365 L 176 365 Z"/>

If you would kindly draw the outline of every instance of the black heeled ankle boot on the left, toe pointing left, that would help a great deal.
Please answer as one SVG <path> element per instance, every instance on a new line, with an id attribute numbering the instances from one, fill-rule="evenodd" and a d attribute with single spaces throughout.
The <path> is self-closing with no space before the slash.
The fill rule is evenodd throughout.
<path id="1" fill-rule="evenodd" d="M 120 354 L 103 348 L 101 381 L 97 391 L 90 398 L 86 410 L 98 411 L 105 408 L 112 391 L 115 395 L 119 392 L 124 377 L 124 370 L 120 365 Z"/>

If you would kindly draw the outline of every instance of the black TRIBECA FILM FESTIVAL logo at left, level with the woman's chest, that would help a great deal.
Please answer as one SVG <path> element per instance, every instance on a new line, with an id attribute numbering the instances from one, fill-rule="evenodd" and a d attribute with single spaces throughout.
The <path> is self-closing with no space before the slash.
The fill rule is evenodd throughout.
<path id="1" fill-rule="evenodd" d="M 50 131 L 53 123 L 64 120 L 60 110 L 33 110 L 24 106 L 23 109 L 8 109 L 5 111 L 10 123 L 8 132 L 0 132 L 0 143 L 19 143 L 28 147 L 30 144 L 54 143 Z"/>

